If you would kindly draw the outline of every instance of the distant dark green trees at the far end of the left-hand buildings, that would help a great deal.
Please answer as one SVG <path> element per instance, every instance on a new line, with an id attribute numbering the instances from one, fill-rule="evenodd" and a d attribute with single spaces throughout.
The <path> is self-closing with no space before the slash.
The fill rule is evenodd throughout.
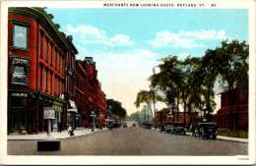
<path id="1" fill-rule="evenodd" d="M 106 110 L 109 117 L 123 119 L 127 115 L 127 111 L 122 107 L 122 103 L 114 99 L 106 100 Z"/>

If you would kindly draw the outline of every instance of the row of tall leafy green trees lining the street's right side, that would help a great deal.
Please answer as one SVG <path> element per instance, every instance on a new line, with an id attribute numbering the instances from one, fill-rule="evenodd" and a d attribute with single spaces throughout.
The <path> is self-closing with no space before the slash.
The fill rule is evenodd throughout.
<path id="1" fill-rule="evenodd" d="M 149 81 L 152 88 L 163 93 L 155 98 L 164 102 L 169 111 L 179 112 L 181 104 L 184 112 L 201 111 L 209 119 L 208 115 L 216 107 L 215 83 L 230 91 L 230 95 L 234 88 L 248 94 L 248 56 L 249 46 L 245 41 L 228 43 L 224 40 L 221 47 L 208 49 L 203 57 L 188 56 L 179 60 L 177 56 L 169 55 L 161 59 L 160 72 L 153 71 Z M 152 102 L 152 91 L 141 90 L 135 105 L 151 105 Z"/>

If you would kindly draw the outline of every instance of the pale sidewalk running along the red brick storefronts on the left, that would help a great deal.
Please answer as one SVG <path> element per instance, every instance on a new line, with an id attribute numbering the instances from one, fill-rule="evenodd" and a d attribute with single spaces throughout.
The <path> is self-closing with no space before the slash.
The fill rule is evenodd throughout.
<path id="1" fill-rule="evenodd" d="M 64 138 L 76 138 L 76 137 L 80 137 L 80 136 L 86 136 L 86 135 L 92 135 L 94 133 L 97 132 L 102 132 L 107 130 L 107 128 L 103 128 L 102 130 L 100 129 L 95 129 L 95 132 L 92 132 L 92 129 L 77 129 L 74 131 L 75 136 L 70 137 L 70 135 L 68 134 L 68 131 L 62 131 L 61 133 L 58 132 L 53 132 L 51 133 L 51 137 L 52 138 L 56 138 L 56 139 L 64 139 Z M 41 140 L 47 137 L 47 133 L 40 133 L 40 134 L 32 134 L 32 135 L 19 135 L 19 134 L 11 134 L 7 136 L 8 140 Z"/>

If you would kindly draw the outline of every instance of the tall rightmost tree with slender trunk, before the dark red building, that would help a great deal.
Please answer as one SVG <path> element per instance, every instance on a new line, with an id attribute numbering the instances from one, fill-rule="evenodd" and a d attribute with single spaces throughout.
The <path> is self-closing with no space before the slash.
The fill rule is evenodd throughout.
<path id="1" fill-rule="evenodd" d="M 239 43 L 238 40 L 233 40 L 227 43 L 227 40 L 222 42 L 222 47 L 217 48 L 218 58 L 220 65 L 218 66 L 218 72 L 220 73 L 220 83 L 223 88 L 227 87 L 229 99 L 230 99 L 230 119 L 229 128 L 233 128 L 233 114 L 232 114 L 232 96 L 235 92 L 242 90 L 245 94 L 248 94 L 248 56 L 249 46 L 245 41 Z M 246 95 L 245 95 L 246 96 Z M 237 117 L 234 117 L 237 119 Z M 237 121 L 236 121 L 237 122 Z M 235 124 L 236 126 L 237 124 Z"/>

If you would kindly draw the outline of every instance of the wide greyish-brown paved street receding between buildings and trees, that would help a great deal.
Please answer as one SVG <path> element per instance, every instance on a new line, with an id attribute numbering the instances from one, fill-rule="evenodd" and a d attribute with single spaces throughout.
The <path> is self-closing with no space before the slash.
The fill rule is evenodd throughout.
<path id="1" fill-rule="evenodd" d="M 175 136 L 141 127 L 61 140 L 61 150 L 37 151 L 36 140 L 8 140 L 9 155 L 246 155 L 248 143 Z"/>

